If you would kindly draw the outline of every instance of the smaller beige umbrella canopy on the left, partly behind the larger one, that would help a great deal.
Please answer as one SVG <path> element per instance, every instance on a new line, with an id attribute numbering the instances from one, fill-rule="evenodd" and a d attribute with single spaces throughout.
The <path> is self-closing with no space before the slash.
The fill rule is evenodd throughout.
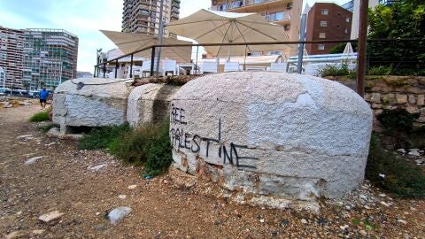
<path id="1" fill-rule="evenodd" d="M 134 52 L 135 50 L 142 50 L 143 48 L 151 45 L 158 44 L 158 36 L 121 33 L 114 31 L 100 30 L 106 35 L 115 45 L 125 54 Z M 176 40 L 173 38 L 164 37 L 163 44 L 192 44 Z M 161 48 L 161 58 L 174 59 L 177 62 L 190 62 L 192 47 L 163 47 Z M 135 53 L 136 57 L 151 58 L 151 50 L 143 50 Z"/>

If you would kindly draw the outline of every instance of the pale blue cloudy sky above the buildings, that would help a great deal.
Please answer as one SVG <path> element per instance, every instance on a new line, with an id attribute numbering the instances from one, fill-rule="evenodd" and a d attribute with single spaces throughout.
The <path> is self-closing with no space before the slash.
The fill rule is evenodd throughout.
<path id="1" fill-rule="evenodd" d="M 308 2 L 313 4 L 315 0 Z M 79 37 L 77 69 L 92 72 L 97 48 L 115 48 L 99 29 L 121 30 L 122 3 L 123 0 L 0 0 L 0 26 L 65 29 Z M 180 16 L 209 6 L 211 0 L 182 0 Z"/>

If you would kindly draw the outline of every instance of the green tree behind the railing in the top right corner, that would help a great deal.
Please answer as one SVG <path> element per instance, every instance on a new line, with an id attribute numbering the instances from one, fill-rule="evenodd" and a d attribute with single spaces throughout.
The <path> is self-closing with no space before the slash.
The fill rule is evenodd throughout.
<path id="1" fill-rule="evenodd" d="M 421 38 L 412 42 L 369 42 L 369 66 L 391 66 L 395 74 L 425 74 L 425 3 L 401 0 L 369 10 L 369 39 Z"/>

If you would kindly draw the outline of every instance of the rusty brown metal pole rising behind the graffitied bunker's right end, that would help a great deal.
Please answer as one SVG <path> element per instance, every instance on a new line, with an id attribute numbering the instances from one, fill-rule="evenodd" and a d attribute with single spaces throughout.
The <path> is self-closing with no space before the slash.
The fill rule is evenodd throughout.
<path id="1" fill-rule="evenodd" d="M 360 0 L 359 39 L 358 39 L 359 48 L 358 48 L 358 55 L 357 55 L 356 89 L 359 96 L 362 96 L 362 97 L 365 95 L 367 10 L 368 10 L 368 0 Z"/>

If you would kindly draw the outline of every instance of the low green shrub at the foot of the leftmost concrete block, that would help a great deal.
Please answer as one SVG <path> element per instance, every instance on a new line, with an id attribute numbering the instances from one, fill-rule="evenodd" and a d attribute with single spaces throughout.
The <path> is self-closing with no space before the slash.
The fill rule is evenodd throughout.
<path id="1" fill-rule="evenodd" d="M 81 150 L 106 149 L 110 143 L 120 138 L 130 130 L 128 124 L 112 127 L 93 128 L 88 135 L 84 135 L 78 143 Z"/>

